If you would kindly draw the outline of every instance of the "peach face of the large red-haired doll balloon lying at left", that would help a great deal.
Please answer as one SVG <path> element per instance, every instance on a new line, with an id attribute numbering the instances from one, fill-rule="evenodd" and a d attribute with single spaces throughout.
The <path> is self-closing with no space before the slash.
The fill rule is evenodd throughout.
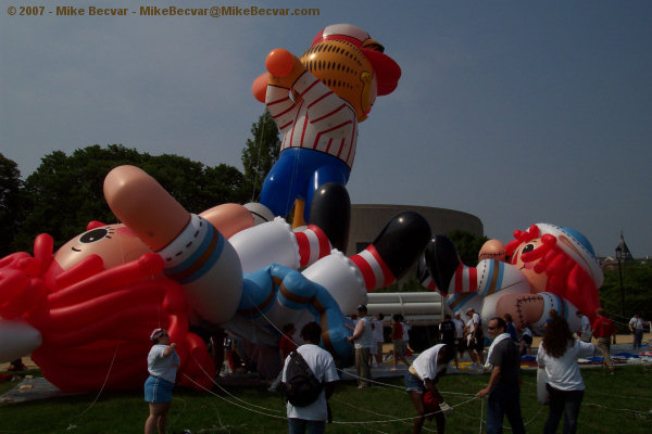
<path id="1" fill-rule="evenodd" d="M 82 259 L 98 255 L 104 268 L 138 259 L 151 250 L 125 225 L 106 225 L 90 229 L 72 239 L 54 254 L 54 260 L 67 270 Z"/>

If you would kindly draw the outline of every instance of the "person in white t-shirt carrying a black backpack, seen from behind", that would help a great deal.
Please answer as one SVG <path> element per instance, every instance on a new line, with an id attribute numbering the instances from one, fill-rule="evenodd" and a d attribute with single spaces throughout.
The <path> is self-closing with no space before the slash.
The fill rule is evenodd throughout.
<path id="1" fill-rule="evenodd" d="M 297 348 L 301 354 L 315 378 L 324 384 L 324 390 L 317 399 L 305 406 L 296 407 L 287 404 L 287 414 L 290 434 L 302 434 L 308 430 L 309 434 L 323 433 L 328 420 L 328 401 L 335 390 L 335 382 L 339 380 L 335 361 L 330 353 L 319 347 L 322 339 L 322 328 L 316 322 L 309 322 L 301 329 L 301 337 L 305 344 Z M 283 370 L 283 382 L 286 383 L 286 371 L 290 361 L 290 356 L 285 361 Z"/>

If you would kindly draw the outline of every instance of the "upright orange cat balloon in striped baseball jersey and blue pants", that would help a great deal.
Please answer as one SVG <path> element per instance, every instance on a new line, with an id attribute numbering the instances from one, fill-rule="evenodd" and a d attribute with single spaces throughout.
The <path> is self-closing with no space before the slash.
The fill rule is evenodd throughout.
<path id="1" fill-rule="evenodd" d="M 274 215 L 286 216 L 299 200 L 294 218 L 308 221 L 319 186 L 347 184 L 358 123 L 367 118 L 376 97 L 396 89 L 401 76 L 384 51 L 362 28 L 336 24 L 319 30 L 301 58 L 285 49 L 269 52 L 268 73 L 254 81 L 252 91 L 283 133 L 279 159 L 261 192 L 261 203 Z"/>

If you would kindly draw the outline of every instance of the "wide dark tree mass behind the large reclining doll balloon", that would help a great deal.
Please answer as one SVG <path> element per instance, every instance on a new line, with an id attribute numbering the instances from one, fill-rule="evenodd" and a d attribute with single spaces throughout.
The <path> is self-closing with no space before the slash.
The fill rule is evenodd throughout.
<path id="1" fill-rule="evenodd" d="M 30 251 L 39 233 L 49 233 L 61 245 L 84 232 L 91 220 L 115 222 L 104 201 L 103 181 L 112 168 L 124 164 L 142 168 L 191 213 L 244 197 L 242 174 L 227 165 L 205 167 L 186 157 L 152 156 L 121 144 L 96 144 L 71 156 L 54 151 L 25 181 L 26 217 L 14 239 L 16 250 Z"/>

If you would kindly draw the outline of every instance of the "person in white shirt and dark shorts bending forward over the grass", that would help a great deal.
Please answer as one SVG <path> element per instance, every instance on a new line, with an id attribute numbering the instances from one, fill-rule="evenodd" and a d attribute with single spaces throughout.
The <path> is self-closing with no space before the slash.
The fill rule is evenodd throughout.
<path id="1" fill-rule="evenodd" d="M 408 369 L 405 373 L 405 391 L 416 410 L 412 431 L 414 434 L 422 432 L 426 414 L 428 413 L 424 403 L 427 392 L 435 398 L 432 412 L 435 413 L 437 433 L 443 434 L 446 418 L 440 407 L 443 403 L 443 397 L 437 390 L 436 384 L 446 374 L 448 363 L 453 359 L 454 354 L 454 346 L 437 344 L 419 354 Z"/>

